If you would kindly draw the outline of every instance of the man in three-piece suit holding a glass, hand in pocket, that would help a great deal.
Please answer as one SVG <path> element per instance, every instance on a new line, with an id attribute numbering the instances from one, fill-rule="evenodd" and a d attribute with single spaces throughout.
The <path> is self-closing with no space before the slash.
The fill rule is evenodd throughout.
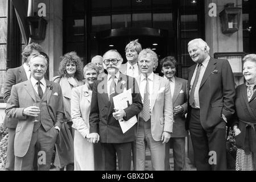
<path id="1" fill-rule="evenodd" d="M 29 65 L 30 80 L 13 86 L 6 107 L 7 117 L 18 119 L 15 171 L 33 170 L 35 152 L 38 152 L 38 170 L 49 170 L 64 115 L 60 85 L 44 79 L 47 57 L 35 55 Z"/>

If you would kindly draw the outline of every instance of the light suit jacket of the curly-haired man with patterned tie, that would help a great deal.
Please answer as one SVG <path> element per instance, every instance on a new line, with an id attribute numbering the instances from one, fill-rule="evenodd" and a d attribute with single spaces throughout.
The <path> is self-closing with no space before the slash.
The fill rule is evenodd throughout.
<path id="1" fill-rule="evenodd" d="M 136 78 L 141 83 L 141 75 Z M 174 117 L 172 113 L 172 96 L 168 80 L 154 74 L 154 90 L 151 99 L 151 134 L 155 141 L 162 138 L 163 131 L 172 133 Z"/>

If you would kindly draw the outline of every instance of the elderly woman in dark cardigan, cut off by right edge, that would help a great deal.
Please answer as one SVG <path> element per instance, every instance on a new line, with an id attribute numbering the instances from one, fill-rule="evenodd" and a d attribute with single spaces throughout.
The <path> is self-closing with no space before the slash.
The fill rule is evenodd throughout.
<path id="1" fill-rule="evenodd" d="M 256 169 L 256 55 L 243 58 L 245 84 L 236 89 L 236 113 L 233 131 L 237 144 L 236 170 Z"/>

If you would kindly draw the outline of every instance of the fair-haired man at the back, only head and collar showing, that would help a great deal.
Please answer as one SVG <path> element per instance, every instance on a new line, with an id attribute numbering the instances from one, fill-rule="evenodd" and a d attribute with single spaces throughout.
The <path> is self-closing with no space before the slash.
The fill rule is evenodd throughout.
<path id="1" fill-rule="evenodd" d="M 141 70 L 138 68 L 138 55 L 141 52 L 141 44 L 138 39 L 131 41 L 125 47 L 125 56 L 127 63 L 122 64 L 120 67 L 120 72 L 124 75 L 131 77 L 138 77 L 141 74 Z"/>

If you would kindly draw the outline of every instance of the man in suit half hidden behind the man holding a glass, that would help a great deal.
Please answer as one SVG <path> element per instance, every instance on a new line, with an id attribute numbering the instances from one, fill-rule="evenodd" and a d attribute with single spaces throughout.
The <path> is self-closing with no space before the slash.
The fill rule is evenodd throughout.
<path id="1" fill-rule="evenodd" d="M 22 52 L 22 65 L 20 67 L 11 68 L 7 70 L 6 80 L 3 87 L 3 100 L 5 101 L 5 103 L 7 103 L 7 101 L 10 98 L 11 88 L 13 87 L 13 85 L 26 81 L 30 78 L 30 68 L 28 67 L 28 63 L 31 57 L 34 56 L 36 53 L 39 53 L 40 51 L 42 51 L 42 48 L 39 44 L 28 44 Z M 8 118 L 7 116 L 5 116 L 3 126 L 9 128 L 7 156 L 5 165 L 6 171 L 14 171 L 14 137 L 17 123 L 18 119 Z"/>

